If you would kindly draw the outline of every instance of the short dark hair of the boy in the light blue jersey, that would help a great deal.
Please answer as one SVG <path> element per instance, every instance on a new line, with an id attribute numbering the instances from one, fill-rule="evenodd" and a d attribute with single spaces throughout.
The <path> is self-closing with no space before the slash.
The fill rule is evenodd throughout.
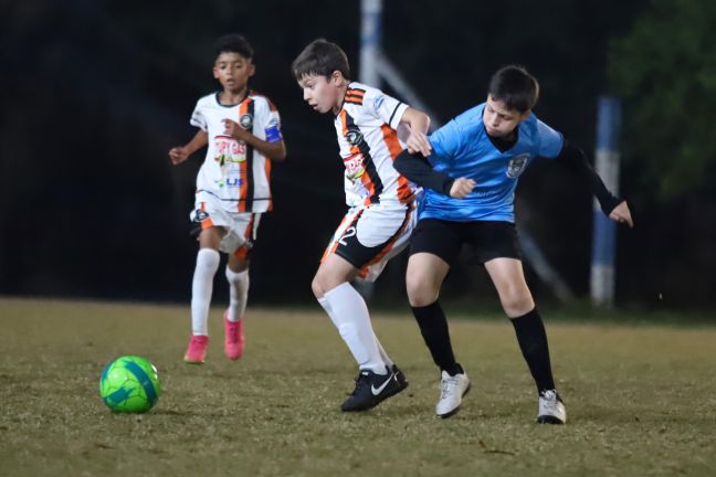
<path id="1" fill-rule="evenodd" d="M 539 83 L 524 66 L 509 65 L 492 76 L 487 95 L 504 103 L 508 109 L 525 113 L 537 104 Z"/>

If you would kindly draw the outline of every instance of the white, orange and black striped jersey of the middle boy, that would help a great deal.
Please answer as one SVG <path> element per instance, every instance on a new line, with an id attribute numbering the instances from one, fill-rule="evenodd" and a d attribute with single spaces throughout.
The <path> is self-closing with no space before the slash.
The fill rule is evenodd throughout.
<path id="1" fill-rule="evenodd" d="M 406 145 L 398 138 L 398 125 L 408 105 L 380 89 L 352 82 L 336 115 L 340 157 L 346 167 L 346 203 L 412 201 L 415 184 L 393 168 L 392 162 Z"/>

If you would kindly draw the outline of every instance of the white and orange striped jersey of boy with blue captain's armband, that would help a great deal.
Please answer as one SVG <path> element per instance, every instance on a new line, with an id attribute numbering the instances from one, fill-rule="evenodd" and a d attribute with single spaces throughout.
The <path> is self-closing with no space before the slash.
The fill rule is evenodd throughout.
<path id="1" fill-rule="evenodd" d="M 218 202 L 229 212 L 270 211 L 271 160 L 244 141 L 225 136 L 223 119 L 239 123 L 267 142 L 283 140 L 278 110 L 267 97 L 250 91 L 233 106 L 219 103 L 219 93 L 200 98 L 189 121 L 209 136 L 207 157 L 197 176 L 197 203 Z"/>

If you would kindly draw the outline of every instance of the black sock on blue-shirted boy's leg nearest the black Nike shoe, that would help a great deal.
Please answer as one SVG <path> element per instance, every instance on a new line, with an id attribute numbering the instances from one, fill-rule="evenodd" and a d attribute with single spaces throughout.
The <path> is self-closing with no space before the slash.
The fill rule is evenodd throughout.
<path id="1" fill-rule="evenodd" d="M 412 307 L 412 310 L 435 364 L 441 370 L 448 371 L 450 375 L 464 372 L 455 361 L 450 343 L 448 319 L 440 304 L 435 301 L 424 307 Z"/>

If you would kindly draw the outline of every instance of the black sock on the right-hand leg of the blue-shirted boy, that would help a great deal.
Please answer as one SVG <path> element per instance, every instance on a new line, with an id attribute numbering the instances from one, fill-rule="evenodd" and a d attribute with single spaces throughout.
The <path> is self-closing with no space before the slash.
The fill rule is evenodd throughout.
<path id="1" fill-rule="evenodd" d="M 519 349 L 527 361 L 537 392 L 555 389 L 555 380 L 549 362 L 549 347 L 545 325 L 537 312 L 537 308 L 517 318 L 510 319 L 517 333 Z"/>

